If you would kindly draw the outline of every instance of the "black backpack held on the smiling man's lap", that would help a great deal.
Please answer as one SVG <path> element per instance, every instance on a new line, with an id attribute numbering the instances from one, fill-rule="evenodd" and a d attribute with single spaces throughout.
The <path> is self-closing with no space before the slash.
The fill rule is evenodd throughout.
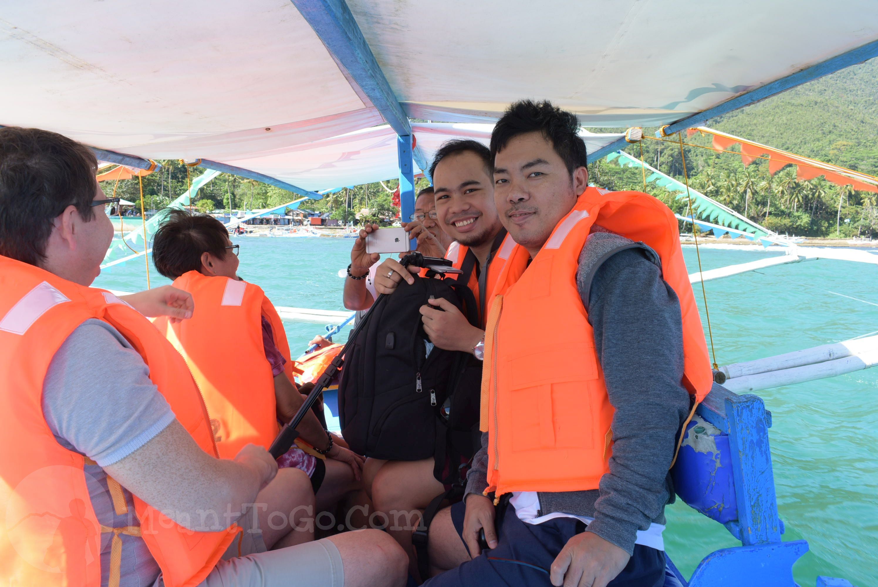
<path id="1" fill-rule="evenodd" d="M 338 402 L 342 436 L 351 450 L 387 460 L 435 457 L 439 479 L 446 454 L 468 459 L 479 446 L 472 440 L 481 362 L 435 346 L 428 353 L 419 309 L 430 297 L 450 301 L 478 325 L 475 298 L 465 283 L 418 276 L 411 286 L 402 281 L 371 308 L 363 330 L 349 342 Z M 453 469 L 450 473 L 457 464 Z"/>

